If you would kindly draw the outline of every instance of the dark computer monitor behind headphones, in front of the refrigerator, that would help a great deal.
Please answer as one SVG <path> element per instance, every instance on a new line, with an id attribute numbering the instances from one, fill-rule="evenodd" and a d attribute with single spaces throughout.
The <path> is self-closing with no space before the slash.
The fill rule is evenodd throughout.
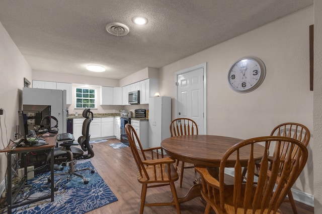
<path id="1" fill-rule="evenodd" d="M 50 127 L 50 120 L 43 121 L 43 124 L 41 124 L 42 118 L 49 116 L 51 113 L 50 105 L 23 105 L 23 112 L 28 117 L 28 130 L 34 130 L 37 133 L 42 125 Z"/>

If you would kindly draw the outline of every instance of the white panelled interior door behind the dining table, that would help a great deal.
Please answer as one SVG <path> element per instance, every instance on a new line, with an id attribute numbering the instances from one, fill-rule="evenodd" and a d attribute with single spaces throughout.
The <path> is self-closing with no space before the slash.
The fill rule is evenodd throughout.
<path id="1" fill-rule="evenodd" d="M 206 134 L 206 63 L 176 73 L 176 116 L 193 119 Z"/>

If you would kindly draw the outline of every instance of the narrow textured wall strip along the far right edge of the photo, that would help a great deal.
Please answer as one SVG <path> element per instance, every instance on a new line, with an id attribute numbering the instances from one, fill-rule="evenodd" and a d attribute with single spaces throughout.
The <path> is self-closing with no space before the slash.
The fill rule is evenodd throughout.
<path id="1" fill-rule="evenodd" d="M 322 1 L 314 1 L 314 213 L 322 213 Z"/>

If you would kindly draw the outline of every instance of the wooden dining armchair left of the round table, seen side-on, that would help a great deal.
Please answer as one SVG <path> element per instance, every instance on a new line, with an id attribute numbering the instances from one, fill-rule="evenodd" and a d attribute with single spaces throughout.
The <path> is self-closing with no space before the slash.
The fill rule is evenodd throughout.
<path id="1" fill-rule="evenodd" d="M 140 214 L 143 213 L 144 206 L 166 206 L 175 205 L 177 212 L 181 213 L 175 181 L 179 179 L 171 157 L 164 157 L 161 147 L 143 149 L 141 142 L 132 125 L 126 124 L 125 131 L 128 136 L 129 146 L 132 151 L 136 166 L 138 168 L 137 180 L 142 184 Z M 138 143 L 139 149 L 135 145 Z M 151 159 L 147 159 L 144 152 L 150 152 Z M 173 194 L 171 202 L 145 203 L 147 188 L 170 185 Z"/>

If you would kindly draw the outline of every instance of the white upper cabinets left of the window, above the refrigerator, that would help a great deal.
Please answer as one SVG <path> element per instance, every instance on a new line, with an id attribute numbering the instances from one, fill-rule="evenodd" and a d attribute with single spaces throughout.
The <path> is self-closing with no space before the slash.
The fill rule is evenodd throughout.
<path id="1" fill-rule="evenodd" d="M 33 88 L 44 88 L 44 89 L 58 89 L 58 90 L 66 90 L 66 104 L 71 104 L 71 83 L 58 83 L 58 82 L 50 82 L 50 81 L 40 81 L 33 80 L 32 81 Z"/>

